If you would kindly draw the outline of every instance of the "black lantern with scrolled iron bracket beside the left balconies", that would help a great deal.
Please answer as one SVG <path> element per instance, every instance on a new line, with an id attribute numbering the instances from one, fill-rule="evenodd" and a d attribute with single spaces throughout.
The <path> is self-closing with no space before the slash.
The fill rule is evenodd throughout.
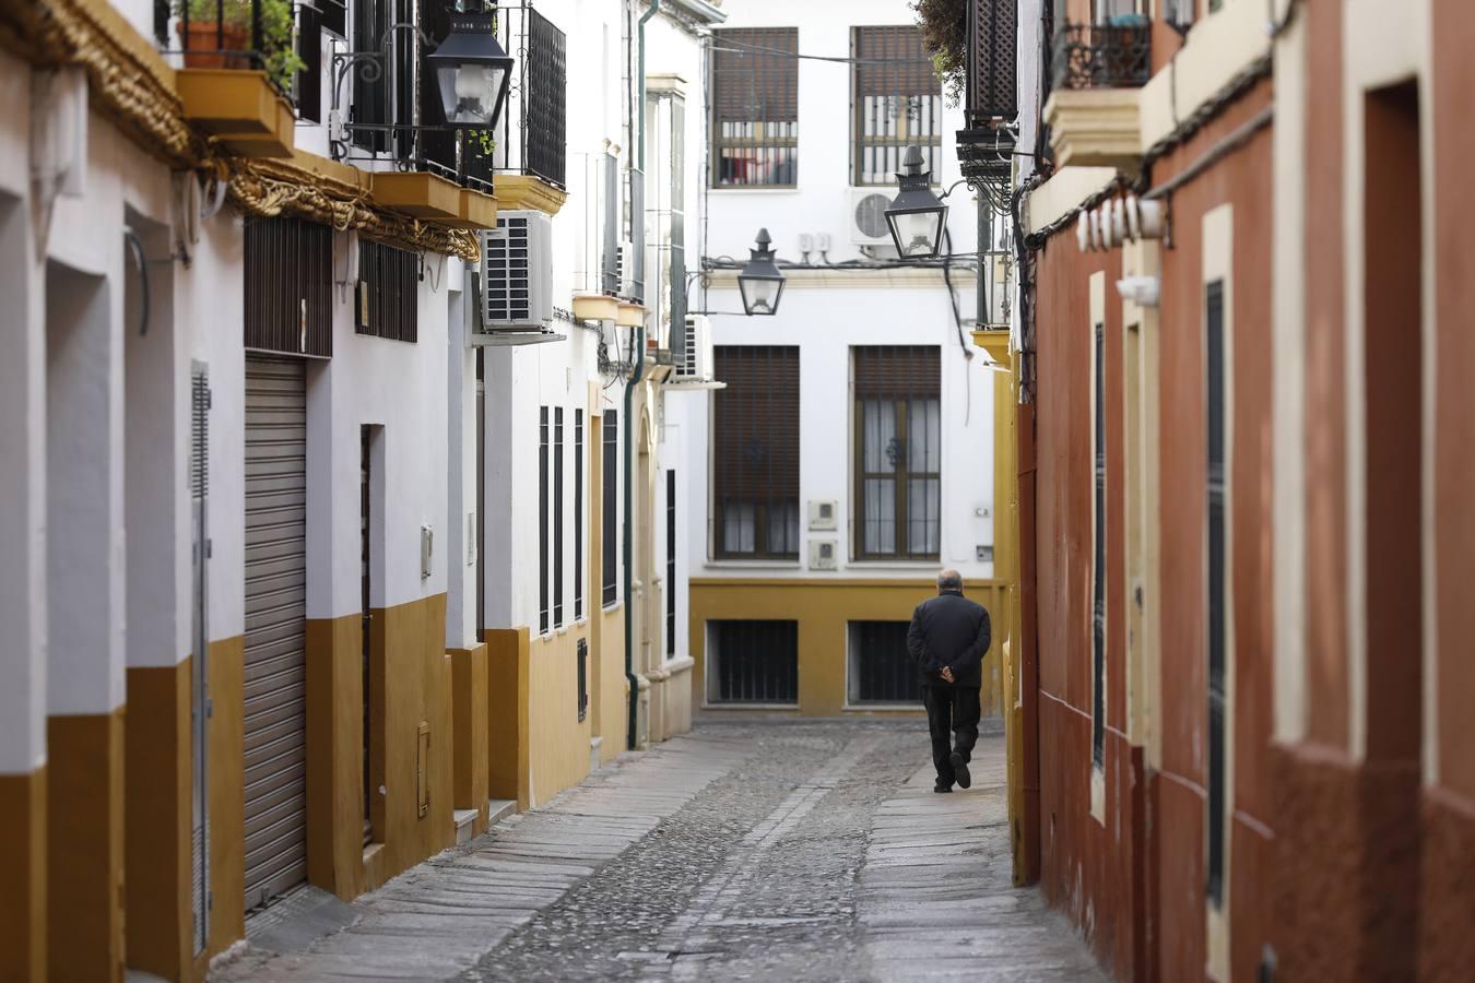
<path id="1" fill-rule="evenodd" d="M 384 78 L 389 63 L 389 41 L 395 31 L 417 34 L 425 47 L 434 44 L 425 31 L 414 24 L 392 24 L 384 32 L 378 52 L 347 52 L 333 55 L 333 103 L 329 115 L 330 149 L 333 159 L 347 155 L 348 134 L 364 133 L 428 133 L 445 130 L 493 130 L 502 116 L 512 83 L 512 57 L 497 43 L 490 13 L 453 13 L 451 32 L 440 47 L 426 56 L 426 65 L 435 69 L 435 85 L 441 93 L 445 111 L 444 125 L 373 124 L 348 122 L 341 111 L 344 77 L 350 68 L 358 69 L 366 83 Z"/>

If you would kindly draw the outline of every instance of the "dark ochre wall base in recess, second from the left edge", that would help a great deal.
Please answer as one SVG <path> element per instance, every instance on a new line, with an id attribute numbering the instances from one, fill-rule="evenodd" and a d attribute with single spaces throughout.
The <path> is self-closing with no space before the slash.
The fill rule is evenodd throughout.
<path id="1" fill-rule="evenodd" d="M 47 973 L 122 979 L 124 707 L 46 722 Z"/>

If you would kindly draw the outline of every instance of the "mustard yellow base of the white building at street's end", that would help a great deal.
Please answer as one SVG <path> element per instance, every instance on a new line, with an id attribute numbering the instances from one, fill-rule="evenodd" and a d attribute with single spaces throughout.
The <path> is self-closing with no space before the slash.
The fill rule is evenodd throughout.
<path id="1" fill-rule="evenodd" d="M 971 581 L 965 588 L 988 609 L 994 638 L 1007 635 L 1007 591 L 997 581 Z M 935 579 L 768 579 L 702 578 L 690 585 L 690 646 L 696 666 L 692 671 L 692 702 L 708 713 L 773 713 L 771 709 L 748 710 L 707 704 L 707 622 L 708 620 L 795 620 L 799 623 L 799 704 L 789 710 L 798 716 L 897 716 L 916 710 L 847 709 L 845 656 L 848 622 L 909 620 L 919 603 L 937 594 Z M 1003 713 L 1003 676 L 999 646 L 984 659 L 982 704 L 985 715 Z"/>

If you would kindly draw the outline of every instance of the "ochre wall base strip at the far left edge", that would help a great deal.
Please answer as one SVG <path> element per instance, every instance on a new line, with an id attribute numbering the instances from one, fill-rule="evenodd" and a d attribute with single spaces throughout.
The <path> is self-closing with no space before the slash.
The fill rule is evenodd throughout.
<path id="1" fill-rule="evenodd" d="M 46 766 L 0 775 L 0 980 L 46 974 Z"/>

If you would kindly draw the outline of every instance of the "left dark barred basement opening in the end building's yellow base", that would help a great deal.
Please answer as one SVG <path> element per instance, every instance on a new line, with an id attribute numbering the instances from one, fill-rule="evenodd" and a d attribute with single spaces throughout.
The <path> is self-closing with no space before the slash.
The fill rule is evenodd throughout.
<path id="1" fill-rule="evenodd" d="M 708 622 L 711 703 L 798 703 L 798 622 Z"/>

